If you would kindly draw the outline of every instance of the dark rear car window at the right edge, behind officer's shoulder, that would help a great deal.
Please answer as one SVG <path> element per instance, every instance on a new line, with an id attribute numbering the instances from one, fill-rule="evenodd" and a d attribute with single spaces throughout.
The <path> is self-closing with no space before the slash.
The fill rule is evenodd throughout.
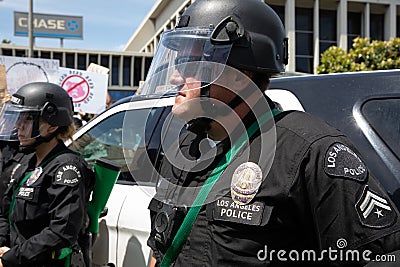
<path id="1" fill-rule="evenodd" d="M 361 111 L 372 128 L 400 159 L 400 98 L 368 100 Z"/>

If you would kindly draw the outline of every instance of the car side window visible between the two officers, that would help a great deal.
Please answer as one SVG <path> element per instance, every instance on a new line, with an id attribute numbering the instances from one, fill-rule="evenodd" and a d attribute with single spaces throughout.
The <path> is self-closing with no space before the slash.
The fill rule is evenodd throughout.
<path id="1" fill-rule="evenodd" d="M 154 129 L 151 121 L 155 114 L 160 113 L 160 109 L 162 108 L 116 113 L 73 141 L 69 147 L 79 152 L 89 163 L 94 163 L 100 157 L 117 162 L 122 166 L 118 180 L 133 181 L 127 162 L 129 164 L 134 160 L 138 150 L 146 150 L 143 144 L 150 141 L 144 140 L 151 139 Z"/>

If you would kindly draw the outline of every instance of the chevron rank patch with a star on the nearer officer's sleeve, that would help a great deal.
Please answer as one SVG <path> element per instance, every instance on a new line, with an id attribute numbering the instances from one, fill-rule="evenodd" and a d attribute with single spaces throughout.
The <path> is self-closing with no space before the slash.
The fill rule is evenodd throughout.
<path id="1" fill-rule="evenodd" d="M 391 226 L 397 218 L 389 200 L 373 192 L 366 185 L 355 208 L 363 225 L 372 228 Z"/>

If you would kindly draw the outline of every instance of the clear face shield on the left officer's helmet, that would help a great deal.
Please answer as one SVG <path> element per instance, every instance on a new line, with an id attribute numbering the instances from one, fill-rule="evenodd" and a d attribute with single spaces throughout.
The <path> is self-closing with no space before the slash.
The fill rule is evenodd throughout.
<path id="1" fill-rule="evenodd" d="M 0 112 L 0 140 L 21 142 L 32 139 L 39 116 L 40 110 L 35 107 L 5 103 Z"/>

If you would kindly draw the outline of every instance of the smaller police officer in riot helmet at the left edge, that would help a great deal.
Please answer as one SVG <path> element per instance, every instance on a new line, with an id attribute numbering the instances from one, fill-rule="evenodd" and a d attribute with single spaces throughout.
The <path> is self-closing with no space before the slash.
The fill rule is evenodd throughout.
<path id="1" fill-rule="evenodd" d="M 64 145 L 72 116 L 72 99 L 51 83 L 24 85 L 3 106 L 0 136 L 27 155 L 1 203 L 0 266 L 66 266 L 80 250 L 94 174 Z"/>

